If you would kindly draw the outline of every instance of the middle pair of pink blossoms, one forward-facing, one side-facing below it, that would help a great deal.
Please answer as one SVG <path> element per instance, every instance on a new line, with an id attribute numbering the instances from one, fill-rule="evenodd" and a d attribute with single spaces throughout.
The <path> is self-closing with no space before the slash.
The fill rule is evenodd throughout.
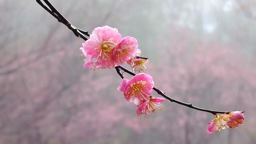
<path id="1" fill-rule="evenodd" d="M 163 107 L 160 102 L 163 102 L 164 98 L 152 97 L 153 87 L 152 76 L 140 73 L 130 80 L 124 78 L 117 90 L 123 92 L 127 102 L 136 104 L 138 116 L 146 116 L 150 114 L 150 111 L 155 112 L 156 108 L 160 110 Z"/>

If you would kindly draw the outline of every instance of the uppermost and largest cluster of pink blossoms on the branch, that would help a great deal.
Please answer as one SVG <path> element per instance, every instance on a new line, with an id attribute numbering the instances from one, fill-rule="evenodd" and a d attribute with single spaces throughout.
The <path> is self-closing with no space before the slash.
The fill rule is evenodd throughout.
<path id="1" fill-rule="evenodd" d="M 82 43 L 84 68 L 94 70 L 100 68 L 114 68 L 116 65 L 128 63 L 134 72 L 145 72 L 144 63 L 148 60 L 137 58 L 141 51 L 135 38 L 126 36 L 122 38 L 116 28 L 103 26 L 94 28 L 90 39 Z"/>

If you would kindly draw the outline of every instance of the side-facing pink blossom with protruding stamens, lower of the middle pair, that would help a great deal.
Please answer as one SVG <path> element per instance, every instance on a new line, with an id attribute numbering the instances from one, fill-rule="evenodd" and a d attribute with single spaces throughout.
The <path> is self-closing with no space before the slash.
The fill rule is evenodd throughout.
<path id="1" fill-rule="evenodd" d="M 159 110 L 163 108 L 164 106 L 160 104 L 160 102 L 164 102 L 164 98 L 157 98 L 157 97 L 151 97 L 149 100 L 142 100 L 138 105 L 137 105 L 137 114 L 139 115 L 144 115 L 150 114 L 151 112 L 155 112 L 156 108 Z"/>

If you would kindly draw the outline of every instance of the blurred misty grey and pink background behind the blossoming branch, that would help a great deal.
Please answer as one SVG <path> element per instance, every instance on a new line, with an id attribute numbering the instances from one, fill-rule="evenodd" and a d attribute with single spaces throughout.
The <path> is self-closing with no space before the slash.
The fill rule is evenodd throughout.
<path id="1" fill-rule="evenodd" d="M 0 144 L 256 144 L 255 0 L 50 1 L 89 33 L 137 38 L 169 96 L 245 110 L 244 125 L 208 134 L 212 114 L 167 100 L 137 116 L 114 69 L 83 68 L 81 38 L 36 0 L 0 0 Z"/>

